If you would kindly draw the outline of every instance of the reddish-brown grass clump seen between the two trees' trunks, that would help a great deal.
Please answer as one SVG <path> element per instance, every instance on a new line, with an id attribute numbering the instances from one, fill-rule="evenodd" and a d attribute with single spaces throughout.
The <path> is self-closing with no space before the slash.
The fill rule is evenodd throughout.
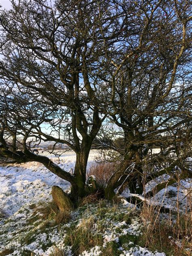
<path id="1" fill-rule="evenodd" d="M 97 184 L 99 186 L 105 186 L 109 181 L 111 175 L 115 172 L 115 163 L 92 163 L 90 169 L 87 172 L 87 178 L 90 175 L 95 175 Z"/>

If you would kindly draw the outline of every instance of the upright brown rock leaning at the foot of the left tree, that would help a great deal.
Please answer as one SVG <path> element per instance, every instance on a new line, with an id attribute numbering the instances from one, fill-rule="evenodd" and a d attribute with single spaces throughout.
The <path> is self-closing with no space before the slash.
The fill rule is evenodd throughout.
<path id="1" fill-rule="evenodd" d="M 52 187 L 52 197 L 60 211 L 71 211 L 73 209 L 73 204 L 68 194 L 66 194 L 60 187 Z"/>

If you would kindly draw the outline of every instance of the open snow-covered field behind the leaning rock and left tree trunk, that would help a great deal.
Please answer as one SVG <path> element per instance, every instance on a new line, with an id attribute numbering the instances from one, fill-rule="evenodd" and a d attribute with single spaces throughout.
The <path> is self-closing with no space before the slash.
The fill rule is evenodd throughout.
<path id="1" fill-rule="evenodd" d="M 91 151 L 89 164 L 96 154 L 96 151 Z M 74 152 L 64 153 L 59 158 L 60 160 L 53 154 L 50 155 L 46 152 L 42 155 L 49 156 L 65 171 L 70 172 L 74 169 Z M 70 183 L 51 173 L 43 164 L 38 162 L 0 166 L 0 207 L 9 215 L 13 215 L 25 203 L 36 203 L 42 199 L 50 199 L 53 185 L 66 190 Z"/>

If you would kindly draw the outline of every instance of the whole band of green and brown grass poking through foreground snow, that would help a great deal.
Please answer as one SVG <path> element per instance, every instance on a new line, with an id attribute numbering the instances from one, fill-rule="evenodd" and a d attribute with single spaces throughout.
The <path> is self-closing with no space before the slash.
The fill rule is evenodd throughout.
<path id="1" fill-rule="evenodd" d="M 79 209 L 71 215 L 61 213 L 53 202 L 41 203 L 41 205 L 31 205 L 33 214 L 27 218 L 27 231 L 21 234 L 22 246 L 35 241 L 37 237 L 45 233 L 46 242 L 39 243 L 39 247 L 44 251 L 53 246 L 51 256 L 64 256 L 63 248 L 58 248 L 50 241 L 52 230 L 57 228 L 60 235 L 63 235 L 65 246 L 71 246 L 74 256 L 82 254 L 83 251 L 90 251 L 92 247 L 100 246 L 103 256 L 119 256 L 122 251 L 130 250 L 131 247 L 147 247 L 148 250 L 155 252 L 165 252 L 167 256 L 190 256 L 191 243 L 191 210 L 180 215 L 163 215 L 159 208 L 153 205 L 143 204 L 140 210 L 122 207 L 121 200 L 115 198 L 114 202 L 107 202 L 99 199 L 97 194 L 85 197 L 79 202 Z M 171 213 L 170 213 L 171 214 Z M 137 218 L 136 218 L 137 217 Z M 69 224 L 69 220 L 72 220 Z M 141 235 L 132 235 L 124 231 L 129 227 L 133 220 L 142 223 Z M 117 225 L 119 222 L 124 222 Z M 69 226 L 70 225 L 70 226 Z M 139 226 L 138 225 L 138 226 Z M 124 229 L 124 230 L 123 230 Z M 105 233 L 107 231 L 107 233 Z M 137 231 L 137 230 L 136 230 Z M 105 240 L 105 234 L 113 233 L 119 241 Z M 126 231 L 127 232 L 127 231 Z M 139 234 L 139 233 L 137 233 Z M 103 247 L 105 245 L 105 247 Z M 9 247 L 7 245 L 7 247 Z M 9 249 L 6 249 L 9 250 Z M 7 255 L 6 250 L 0 256 Z M 22 250 L 22 249 L 21 249 Z M 23 256 L 31 256 L 32 252 L 25 250 L 21 252 Z M 9 254 L 9 253 L 8 253 Z"/>

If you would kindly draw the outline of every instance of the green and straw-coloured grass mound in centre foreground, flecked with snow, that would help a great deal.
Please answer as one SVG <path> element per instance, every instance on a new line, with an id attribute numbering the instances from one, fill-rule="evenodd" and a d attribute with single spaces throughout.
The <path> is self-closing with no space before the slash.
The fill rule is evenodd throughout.
<path id="1" fill-rule="evenodd" d="M 130 224 L 131 218 L 135 217 L 132 210 L 122 209 L 122 205 L 111 205 L 105 200 L 100 200 L 94 205 L 87 206 L 87 210 L 83 213 L 81 222 L 77 225 L 73 223 L 66 232 L 64 244 L 72 246 L 73 255 L 79 255 L 83 251 L 89 251 L 94 246 L 100 246 L 102 255 L 119 255 L 122 252 L 117 250 L 122 244 L 129 243 L 130 241 L 136 241 L 135 236 L 127 234 L 122 235 L 122 228 L 127 228 L 127 224 Z M 80 209 L 85 209 L 81 207 Z M 94 209 L 94 210 L 93 210 Z M 90 212 L 92 210 L 92 212 Z M 125 225 L 115 228 L 113 223 L 123 222 Z M 117 234 L 119 237 L 119 243 L 115 241 L 107 242 L 106 247 L 103 248 L 104 243 L 103 234 L 105 230 L 111 230 L 111 232 Z"/>

